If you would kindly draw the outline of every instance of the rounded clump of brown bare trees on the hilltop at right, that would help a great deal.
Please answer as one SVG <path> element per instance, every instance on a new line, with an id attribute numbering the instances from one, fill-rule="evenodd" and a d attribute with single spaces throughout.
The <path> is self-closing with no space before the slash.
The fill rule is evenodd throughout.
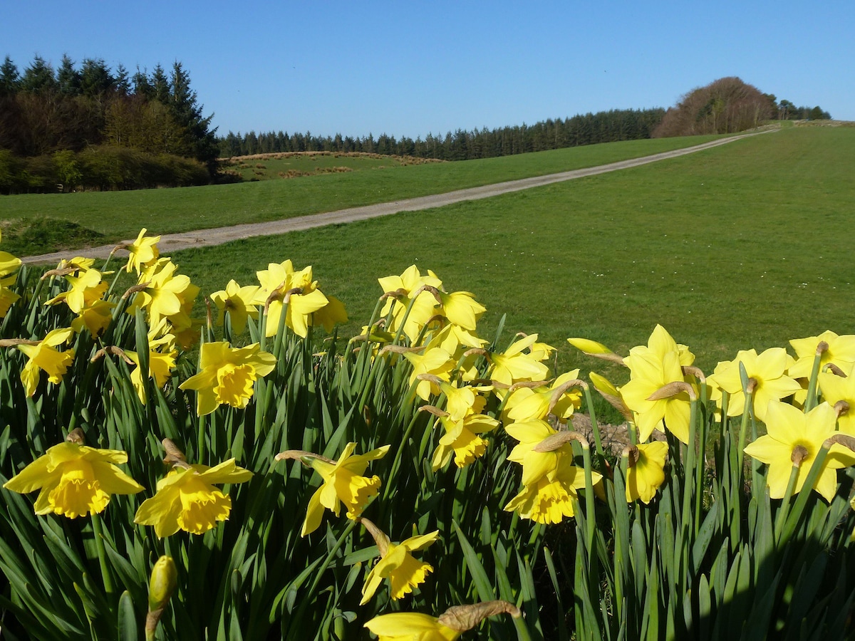
<path id="1" fill-rule="evenodd" d="M 665 113 L 653 138 L 734 133 L 752 129 L 769 120 L 828 120 L 819 107 L 796 107 L 788 100 L 777 102 L 774 94 L 762 93 L 739 78 L 721 78 L 689 91 Z"/>

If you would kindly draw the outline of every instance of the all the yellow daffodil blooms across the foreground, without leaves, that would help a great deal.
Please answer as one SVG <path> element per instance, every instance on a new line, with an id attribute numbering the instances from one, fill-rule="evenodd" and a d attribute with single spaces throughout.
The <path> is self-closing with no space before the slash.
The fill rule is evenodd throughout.
<path id="1" fill-rule="evenodd" d="M 264 339 L 282 332 L 310 339 L 315 326 L 332 331 L 347 320 L 344 305 L 319 289 L 311 267 L 296 269 L 285 261 L 258 271 L 257 285 L 231 280 L 225 289 L 211 293 L 209 310 L 215 309 L 216 315 L 209 313 L 207 324 L 197 321 L 192 311 L 199 288 L 178 273 L 170 258 L 160 256 L 159 237 L 147 237 L 145 232 L 117 248 L 129 252 L 122 270 L 125 277 L 136 278 L 121 297 L 112 296 L 121 273 L 115 273 L 111 284 L 105 277 L 113 273 L 94 268 L 91 259 L 63 261 L 44 274 L 51 283 L 64 281 L 62 291 L 44 304 L 68 307 L 74 321 L 41 338 L 0 342 L 0 347 L 26 357 L 20 368 L 21 390 L 38 400 L 49 385 L 61 385 L 80 359 L 95 362 L 115 356 L 132 368 L 129 379 L 141 405 L 151 403 L 152 393 L 159 395 L 172 385 L 173 391 L 184 391 L 195 400 L 198 417 L 218 410 L 230 415 L 256 412 L 260 433 L 255 437 L 260 438 L 264 415 L 250 403 L 262 396 L 265 377 L 281 365 L 274 353 L 265 350 Z M 0 251 L 0 319 L 21 301 L 21 295 L 10 289 L 20 265 L 17 258 Z M 454 475 L 477 466 L 496 442 L 504 440 L 510 443 L 510 453 L 501 464 L 514 466 L 519 478 L 519 491 L 504 505 L 505 511 L 557 524 L 577 515 L 582 498 L 590 509 L 594 494 L 604 496 L 604 479 L 613 476 L 613 470 L 608 465 L 593 469 L 588 435 L 573 426 L 583 397 L 590 405 L 589 385 L 578 369 L 552 373 L 549 362 L 556 348 L 540 342 L 538 334 L 519 334 L 504 350 L 479 337 L 477 323 L 485 307 L 469 291 L 445 291 L 429 270 L 421 273 L 414 265 L 400 275 L 379 279 L 379 284 L 382 296 L 374 318 L 351 341 L 351 350 L 372 365 L 384 362 L 406 368 L 406 400 L 429 415 L 429 438 L 422 442 L 433 444 L 429 452 L 433 473 Z M 144 321 L 146 331 L 136 337 L 138 349 L 140 344 L 146 346 L 142 352 L 109 344 L 112 328 L 127 315 Z M 211 339 L 214 326 L 222 327 L 222 340 Z M 233 339 L 240 340 L 248 328 L 259 342 L 234 346 Z M 568 340 L 588 356 L 628 369 L 623 385 L 590 374 L 593 387 L 627 420 L 625 446 L 612 453 L 620 456 L 627 503 L 656 500 L 668 479 L 669 444 L 695 447 L 698 403 L 716 403 L 722 417 L 743 416 L 764 424 L 764 434 L 746 444 L 744 422 L 740 449 L 768 466 L 772 498 L 801 491 L 816 463 L 821 469 L 812 487 L 830 501 L 838 491 L 837 471 L 855 465 L 855 336 L 824 332 L 793 340 L 795 356 L 782 348 L 761 354 L 740 351 L 708 377 L 694 367 L 687 346 L 676 343 L 661 326 L 646 345 L 634 347 L 627 356 L 586 338 Z M 197 344 L 198 368 L 180 381 L 178 363 Z M 192 411 L 192 400 L 182 410 Z M 126 452 L 86 445 L 80 427 L 68 432 L 64 443 L 48 448 L 3 488 L 22 494 L 39 491 L 33 506 L 37 515 L 70 519 L 99 515 L 114 495 L 146 493 L 144 485 L 120 467 L 127 464 Z M 198 435 L 200 444 L 204 436 Z M 596 421 L 593 438 L 599 460 L 604 461 Z M 270 473 L 240 467 L 239 456 L 212 466 L 187 462 L 172 440 L 163 438 L 161 443 L 167 471 L 156 480 L 150 496 L 134 505 L 133 518 L 136 524 L 152 527 L 157 538 L 209 532 L 232 511 L 228 490 L 218 486 L 231 488 L 249 481 L 254 473 Z M 365 574 L 360 604 L 374 599 L 382 585 L 392 601 L 402 600 L 419 591 L 434 573 L 421 557 L 429 558 L 425 550 L 441 540 L 440 532 L 414 531 L 410 538 L 394 542 L 365 516 L 383 484 L 369 468 L 390 454 L 392 446 L 357 452 L 358 448 L 356 442 L 345 444 L 337 460 L 305 450 L 285 450 L 274 458 L 310 468 L 320 479 L 314 492 L 306 492 L 301 537 L 313 536 L 325 517 L 327 522 L 338 519 L 344 509 L 350 526 L 361 526 L 373 540 L 377 555 Z M 396 454 L 392 451 L 392 456 Z M 291 477 L 308 483 L 312 473 Z M 127 499 L 134 500 L 139 499 Z M 162 562 L 159 572 L 174 583 L 171 563 L 171 559 Z M 159 603 L 163 602 L 161 598 Z M 516 606 L 497 601 L 452 608 L 439 617 L 394 612 L 365 625 L 390 641 L 449 640 L 487 616 L 502 613 L 520 614 Z"/>

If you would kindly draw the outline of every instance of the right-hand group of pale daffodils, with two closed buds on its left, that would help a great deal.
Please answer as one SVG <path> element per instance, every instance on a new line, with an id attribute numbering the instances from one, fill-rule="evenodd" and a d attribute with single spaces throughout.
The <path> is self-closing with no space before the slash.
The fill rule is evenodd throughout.
<path id="1" fill-rule="evenodd" d="M 849 415 L 855 403 L 855 336 L 826 331 L 793 339 L 796 356 L 780 347 L 760 354 L 740 350 L 733 361 L 719 362 L 709 377 L 693 367 L 693 354 L 662 326 L 647 345 L 634 347 L 626 357 L 586 338 L 569 338 L 569 343 L 629 370 L 628 382 L 620 387 L 591 375 L 597 390 L 628 420 L 628 500 L 650 503 L 665 480 L 668 446 L 650 440 L 654 434 L 667 432 L 683 444 L 694 444 L 689 428 L 692 403 L 699 400 L 714 401 L 728 417 L 763 422 L 766 433 L 744 451 L 768 465 L 771 498 L 801 491 L 823 448 L 828 456 L 823 454 L 813 489 L 827 501 L 837 491 L 836 470 L 855 465 L 855 422 Z M 702 387 L 707 399 L 701 397 Z M 741 439 L 744 443 L 745 426 Z"/>

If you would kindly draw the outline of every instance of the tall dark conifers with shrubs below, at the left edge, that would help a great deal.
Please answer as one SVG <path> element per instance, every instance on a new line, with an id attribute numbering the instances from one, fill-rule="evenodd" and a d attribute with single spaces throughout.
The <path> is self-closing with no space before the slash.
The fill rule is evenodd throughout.
<path id="1" fill-rule="evenodd" d="M 213 115 L 180 62 L 167 72 L 100 58 L 0 65 L 0 192 L 198 185 L 215 175 Z"/>

